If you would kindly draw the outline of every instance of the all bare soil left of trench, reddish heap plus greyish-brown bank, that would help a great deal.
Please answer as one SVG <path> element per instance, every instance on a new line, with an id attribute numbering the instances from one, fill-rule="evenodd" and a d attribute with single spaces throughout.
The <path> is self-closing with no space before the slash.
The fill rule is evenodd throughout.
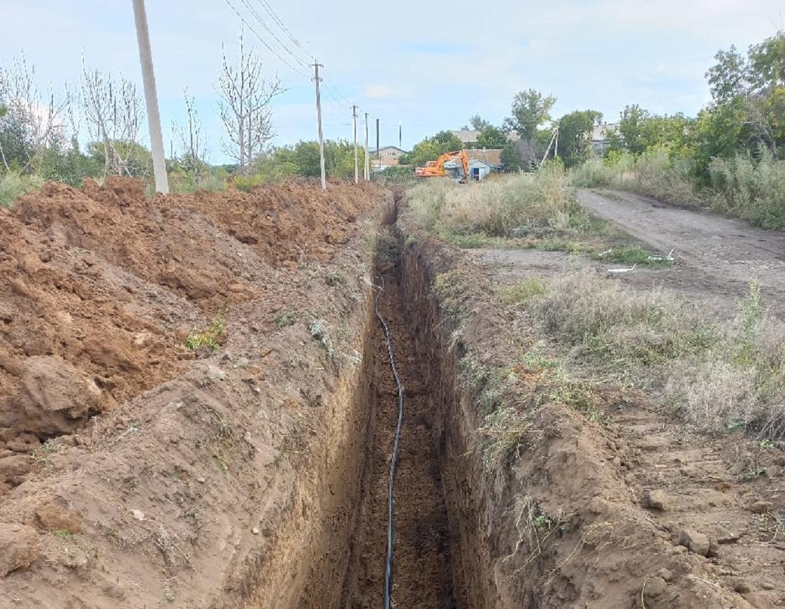
<path id="1" fill-rule="evenodd" d="M 0 210 L 0 607 L 297 605 L 309 535 L 356 504 L 314 485 L 356 442 L 391 202 L 108 179 Z"/>

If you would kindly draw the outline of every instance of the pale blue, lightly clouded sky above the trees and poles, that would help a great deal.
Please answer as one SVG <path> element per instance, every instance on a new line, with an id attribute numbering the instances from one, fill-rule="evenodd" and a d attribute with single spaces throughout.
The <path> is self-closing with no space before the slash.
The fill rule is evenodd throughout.
<path id="1" fill-rule="evenodd" d="M 316 138 L 316 57 L 326 138 L 352 138 L 356 104 L 361 144 L 368 112 L 372 148 L 380 119 L 382 146 L 398 145 L 400 124 L 411 149 L 475 114 L 501 123 L 529 88 L 557 97 L 554 116 L 593 109 L 612 122 L 633 103 L 695 115 L 710 99 L 704 74 L 717 50 L 785 29 L 783 0 L 147 0 L 147 12 L 165 145 L 173 121 L 184 123 L 188 90 L 215 163 L 227 160 L 221 49 L 236 57 L 241 30 L 287 88 L 272 143 Z M 0 65 L 24 52 L 42 88 L 78 83 L 85 61 L 141 90 L 131 0 L 4 2 L 0 18 Z"/>

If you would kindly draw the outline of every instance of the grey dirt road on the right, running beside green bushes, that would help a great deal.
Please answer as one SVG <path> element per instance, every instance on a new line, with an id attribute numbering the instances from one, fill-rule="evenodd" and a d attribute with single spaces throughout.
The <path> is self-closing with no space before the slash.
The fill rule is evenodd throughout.
<path id="1" fill-rule="evenodd" d="M 674 249 L 676 267 L 659 273 L 666 288 L 732 303 L 757 279 L 772 311 L 785 317 L 785 233 L 618 191 L 582 190 L 579 199 L 652 248 Z"/>

